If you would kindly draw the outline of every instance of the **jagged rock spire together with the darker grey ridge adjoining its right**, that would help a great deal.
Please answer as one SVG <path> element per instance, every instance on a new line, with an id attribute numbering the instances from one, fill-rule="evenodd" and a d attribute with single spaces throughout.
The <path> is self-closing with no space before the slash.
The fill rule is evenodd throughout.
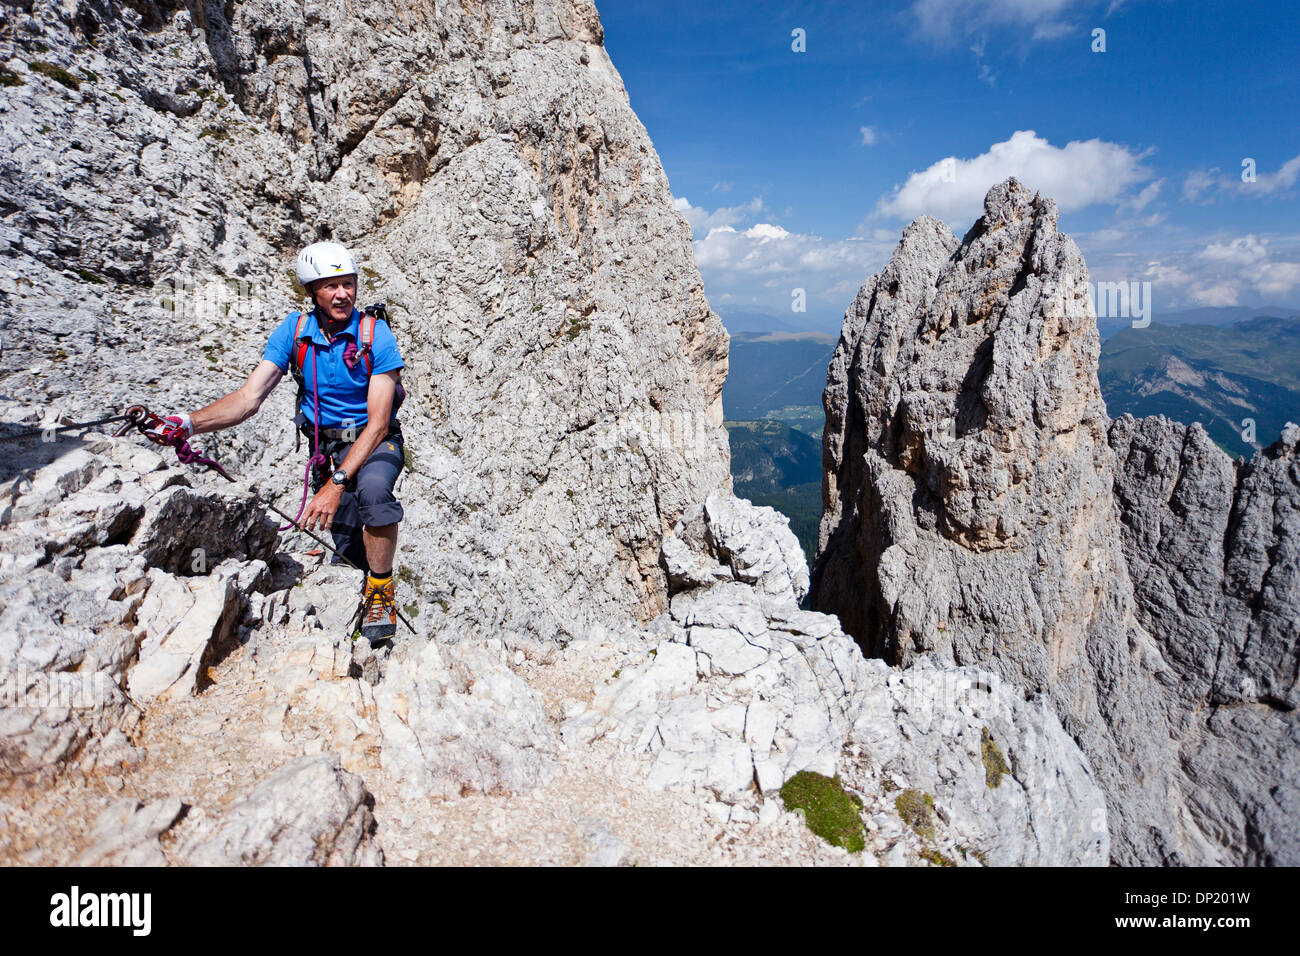
<path id="1" fill-rule="evenodd" d="M 1295 861 L 1296 436 L 1235 490 L 1204 432 L 1112 427 L 1087 281 L 1014 179 L 959 241 L 907 228 L 827 375 L 812 607 L 1045 695 L 1119 862 Z"/>

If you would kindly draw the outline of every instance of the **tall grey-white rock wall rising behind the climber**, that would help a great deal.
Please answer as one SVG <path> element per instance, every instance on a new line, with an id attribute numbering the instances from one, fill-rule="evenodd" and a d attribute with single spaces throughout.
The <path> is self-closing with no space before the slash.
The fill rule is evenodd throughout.
<path id="1" fill-rule="evenodd" d="M 728 339 L 589 0 L 9 14 L 0 330 L 29 358 L 6 395 L 73 418 L 202 407 L 302 306 L 298 248 L 334 238 L 407 365 L 421 598 L 451 630 L 559 643 L 664 610 L 663 533 L 731 489 Z M 289 512 L 291 392 L 195 442 Z M 114 538 L 130 507 L 84 536 Z M 200 544 L 169 546 L 155 563 L 188 574 Z"/>

